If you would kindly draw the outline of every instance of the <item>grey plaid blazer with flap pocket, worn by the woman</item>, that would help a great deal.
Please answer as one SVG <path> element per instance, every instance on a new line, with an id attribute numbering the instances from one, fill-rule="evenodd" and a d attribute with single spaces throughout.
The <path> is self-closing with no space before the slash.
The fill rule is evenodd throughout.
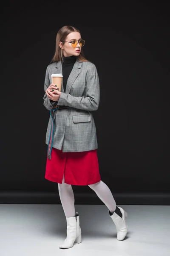
<path id="1" fill-rule="evenodd" d="M 48 65 L 45 74 L 44 90 L 51 84 L 51 74 L 62 73 L 62 63 Z M 54 111 L 54 136 L 53 147 L 63 152 L 82 152 L 96 149 L 97 137 L 96 126 L 92 111 L 99 107 L 99 77 L 96 66 L 88 61 L 76 61 L 68 77 L 64 93 L 63 83 L 61 95 L 57 105 L 68 108 Z M 53 105 L 46 93 L 44 106 L 51 110 Z M 51 130 L 51 116 L 49 117 L 45 143 Z"/>

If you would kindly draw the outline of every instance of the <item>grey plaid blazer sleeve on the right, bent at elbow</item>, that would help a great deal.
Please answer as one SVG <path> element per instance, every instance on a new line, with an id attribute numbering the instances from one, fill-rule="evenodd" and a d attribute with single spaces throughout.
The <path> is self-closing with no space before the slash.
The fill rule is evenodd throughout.
<path id="1" fill-rule="evenodd" d="M 86 97 L 75 97 L 70 94 L 61 93 L 58 105 L 67 105 L 72 108 L 78 108 L 81 110 L 94 111 L 99 107 L 100 100 L 100 88 L 99 77 L 94 64 L 87 71 L 86 74 Z"/>

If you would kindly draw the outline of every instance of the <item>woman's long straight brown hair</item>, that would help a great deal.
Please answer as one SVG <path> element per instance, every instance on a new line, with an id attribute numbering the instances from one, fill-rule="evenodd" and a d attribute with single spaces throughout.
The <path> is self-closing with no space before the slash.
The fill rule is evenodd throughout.
<path id="1" fill-rule="evenodd" d="M 62 57 L 62 49 L 59 47 L 59 42 L 64 43 L 66 37 L 68 36 L 68 34 L 70 34 L 71 32 L 79 32 L 79 29 L 73 27 L 73 26 L 63 26 L 61 29 L 59 29 L 59 31 L 57 32 L 57 37 L 56 37 L 56 50 L 54 53 L 54 57 L 51 60 L 51 63 L 54 62 L 58 62 L 58 61 L 63 61 L 63 57 Z M 83 54 L 83 50 L 81 49 L 81 52 L 79 54 L 79 56 L 77 57 L 77 59 L 79 61 L 88 61 L 84 54 Z"/>

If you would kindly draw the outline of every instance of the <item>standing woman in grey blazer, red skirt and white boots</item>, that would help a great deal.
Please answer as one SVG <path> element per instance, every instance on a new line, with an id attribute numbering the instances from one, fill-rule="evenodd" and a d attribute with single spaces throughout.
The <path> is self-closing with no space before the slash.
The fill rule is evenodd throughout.
<path id="1" fill-rule="evenodd" d="M 82 51 L 85 41 L 72 26 L 59 29 L 56 51 L 45 75 L 44 106 L 50 111 L 46 133 L 48 154 L 45 178 L 58 183 L 59 197 L 67 222 L 67 238 L 59 248 L 81 243 L 79 214 L 75 212 L 71 185 L 88 185 L 108 207 L 117 239 L 127 234 L 125 212 L 116 206 L 111 190 L 102 182 L 92 111 L 99 107 L 99 78 L 96 66 Z M 51 83 L 51 75 L 62 73 L 62 90 Z"/>

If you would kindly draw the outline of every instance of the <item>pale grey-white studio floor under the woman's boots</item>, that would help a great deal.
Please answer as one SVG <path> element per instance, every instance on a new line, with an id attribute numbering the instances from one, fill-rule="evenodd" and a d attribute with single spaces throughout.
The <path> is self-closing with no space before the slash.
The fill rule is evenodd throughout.
<path id="1" fill-rule="evenodd" d="M 76 205 L 82 243 L 59 249 L 66 220 L 59 204 L 0 204 L 0 256 L 170 256 L 170 206 L 118 205 L 129 232 L 116 239 L 105 205 Z"/>

